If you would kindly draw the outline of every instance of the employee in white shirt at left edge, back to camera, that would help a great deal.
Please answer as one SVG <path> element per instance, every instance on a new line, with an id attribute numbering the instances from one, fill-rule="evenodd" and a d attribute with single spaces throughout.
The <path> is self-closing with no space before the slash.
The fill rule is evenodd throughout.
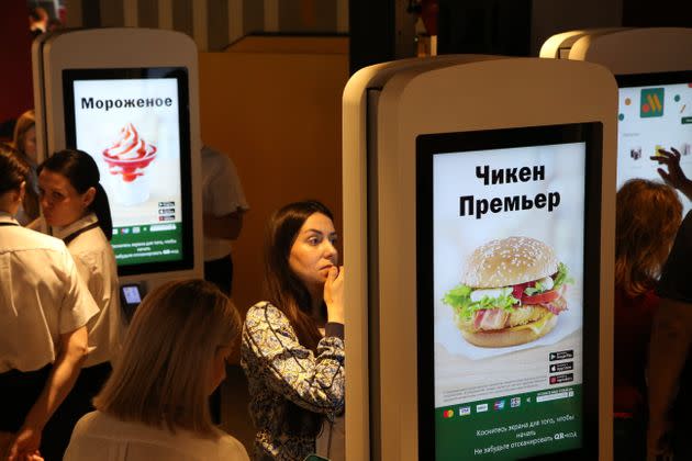
<path id="1" fill-rule="evenodd" d="M 42 431 L 88 353 L 98 313 L 65 244 L 19 225 L 30 168 L 0 144 L 0 432 L 11 460 L 36 453 Z"/>

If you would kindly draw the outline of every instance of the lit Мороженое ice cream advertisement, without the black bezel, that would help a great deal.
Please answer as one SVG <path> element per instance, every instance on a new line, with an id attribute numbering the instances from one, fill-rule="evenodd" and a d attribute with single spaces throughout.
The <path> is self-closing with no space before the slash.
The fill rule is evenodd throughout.
<path id="1" fill-rule="evenodd" d="M 101 173 L 119 265 L 181 257 L 178 82 L 74 81 L 75 138 Z"/>

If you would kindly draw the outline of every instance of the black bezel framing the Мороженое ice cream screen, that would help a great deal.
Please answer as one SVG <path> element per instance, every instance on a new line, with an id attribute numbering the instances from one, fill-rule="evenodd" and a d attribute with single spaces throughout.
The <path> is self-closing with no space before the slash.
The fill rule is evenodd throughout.
<path id="1" fill-rule="evenodd" d="M 154 272 L 190 270 L 194 267 L 192 237 L 192 171 L 190 146 L 190 99 L 188 69 L 185 67 L 139 67 L 110 69 L 64 69 L 63 97 L 65 108 L 65 143 L 67 148 L 77 148 L 75 126 L 75 81 L 81 80 L 131 80 L 175 78 L 178 81 L 178 125 L 180 131 L 180 194 L 182 204 L 182 258 L 177 261 L 153 261 L 118 265 L 118 276 L 138 276 Z M 186 175 L 187 173 L 187 175 Z"/>

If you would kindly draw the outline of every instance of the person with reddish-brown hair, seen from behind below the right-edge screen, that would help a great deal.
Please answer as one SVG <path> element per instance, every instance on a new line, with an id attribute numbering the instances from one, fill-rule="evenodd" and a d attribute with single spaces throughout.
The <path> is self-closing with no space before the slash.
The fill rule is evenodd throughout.
<path id="1" fill-rule="evenodd" d="M 615 227 L 615 457 L 646 454 L 645 367 L 655 289 L 682 220 L 678 193 L 661 182 L 627 181 L 617 192 Z"/>

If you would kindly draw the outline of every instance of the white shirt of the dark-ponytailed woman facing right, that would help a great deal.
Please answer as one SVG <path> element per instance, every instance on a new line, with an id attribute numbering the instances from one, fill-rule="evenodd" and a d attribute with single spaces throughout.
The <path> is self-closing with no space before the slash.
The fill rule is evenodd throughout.
<path id="1" fill-rule="evenodd" d="M 52 227 L 62 240 L 85 227 L 98 223 L 90 213 L 66 227 Z M 43 227 L 43 226 L 42 226 Z M 120 308 L 118 266 L 111 244 L 100 227 L 82 232 L 67 244 L 81 280 L 99 306 L 99 315 L 87 324 L 89 347 L 93 348 L 82 367 L 111 361 L 120 351 L 125 337 L 125 321 Z"/>

